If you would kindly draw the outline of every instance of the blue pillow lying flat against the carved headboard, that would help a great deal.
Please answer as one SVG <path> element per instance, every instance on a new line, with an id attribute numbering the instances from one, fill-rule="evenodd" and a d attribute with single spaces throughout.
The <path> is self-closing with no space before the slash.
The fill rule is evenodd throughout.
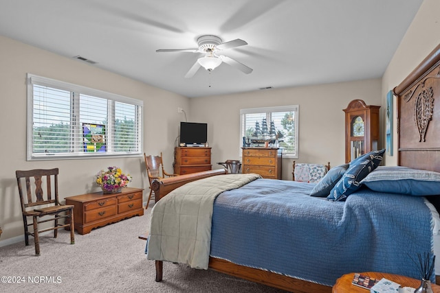
<path id="1" fill-rule="evenodd" d="M 360 182 L 373 191 L 410 196 L 440 195 L 440 173 L 401 166 L 378 167 Z"/>

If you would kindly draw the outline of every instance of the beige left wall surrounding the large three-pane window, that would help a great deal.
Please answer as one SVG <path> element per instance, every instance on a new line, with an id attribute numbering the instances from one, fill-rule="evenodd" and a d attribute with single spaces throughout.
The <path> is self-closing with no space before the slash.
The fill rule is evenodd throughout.
<path id="1" fill-rule="evenodd" d="M 144 152 L 164 152 L 164 163 L 172 168 L 175 139 L 181 114 L 177 106 L 189 108 L 189 99 L 142 82 L 97 69 L 87 63 L 64 58 L 0 36 L 0 244 L 23 241 L 23 219 L 15 180 L 15 170 L 60 169 L 59 192 L 62 198 L 100 191 L 93 178 L 100 169 L 118 165 L 133 176 L 132 187 L 144 188 L 144 158 L 26 161 L 26 73 L 63 80 L 101 91 L 144 101 Z"/>

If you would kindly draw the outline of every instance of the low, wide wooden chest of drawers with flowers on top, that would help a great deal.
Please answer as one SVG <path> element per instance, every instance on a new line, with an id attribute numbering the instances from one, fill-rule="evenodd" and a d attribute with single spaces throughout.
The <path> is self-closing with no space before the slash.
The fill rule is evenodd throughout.
<path id="1" fill-rule="evenodd" d="M 100 191 L 65 198 L 66 204 L 74 205 L 75 230 L 83 235 L 93 228 L 143 215 L 142 190 L 125 187 L 118 194 L 102 194 Z"/>

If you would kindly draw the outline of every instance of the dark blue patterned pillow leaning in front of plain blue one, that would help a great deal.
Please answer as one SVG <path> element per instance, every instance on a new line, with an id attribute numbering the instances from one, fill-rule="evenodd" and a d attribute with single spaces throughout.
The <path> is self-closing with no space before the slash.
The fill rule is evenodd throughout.
<path id="1" fill-rule="evenodd" d="M 384 152 L 385 149 L 375 150 L 351 161 L 349 169 L 331 189 L 327 200 L 345 200 L 347 196 L 360 189 L 360 181 L 380 165 Z"/>

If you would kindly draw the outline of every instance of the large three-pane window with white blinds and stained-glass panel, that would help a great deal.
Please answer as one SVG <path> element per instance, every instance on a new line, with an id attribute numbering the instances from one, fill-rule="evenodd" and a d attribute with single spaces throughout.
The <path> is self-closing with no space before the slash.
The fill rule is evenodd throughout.
<path id="1" fill-rule="evenodd" d="M 28 74 L 28 160 L 131 156 L 143 102 Z"/>

